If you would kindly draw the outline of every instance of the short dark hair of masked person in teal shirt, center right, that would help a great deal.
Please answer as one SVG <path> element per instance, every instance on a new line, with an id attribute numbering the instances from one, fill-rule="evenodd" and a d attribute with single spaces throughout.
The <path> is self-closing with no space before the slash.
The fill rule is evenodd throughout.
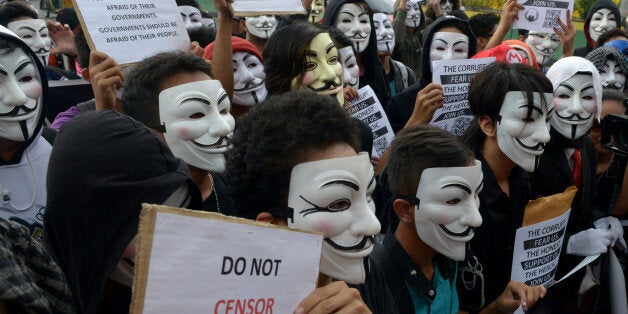
<path id="1" fill-rule="evenodd" d="M 424 124 L 399 131 L 389 151 L 386 169 L 393 195 L 416 195 L 427 168 L 465 167 L 475 160 L 473 151 L 453 134 Z"/>

